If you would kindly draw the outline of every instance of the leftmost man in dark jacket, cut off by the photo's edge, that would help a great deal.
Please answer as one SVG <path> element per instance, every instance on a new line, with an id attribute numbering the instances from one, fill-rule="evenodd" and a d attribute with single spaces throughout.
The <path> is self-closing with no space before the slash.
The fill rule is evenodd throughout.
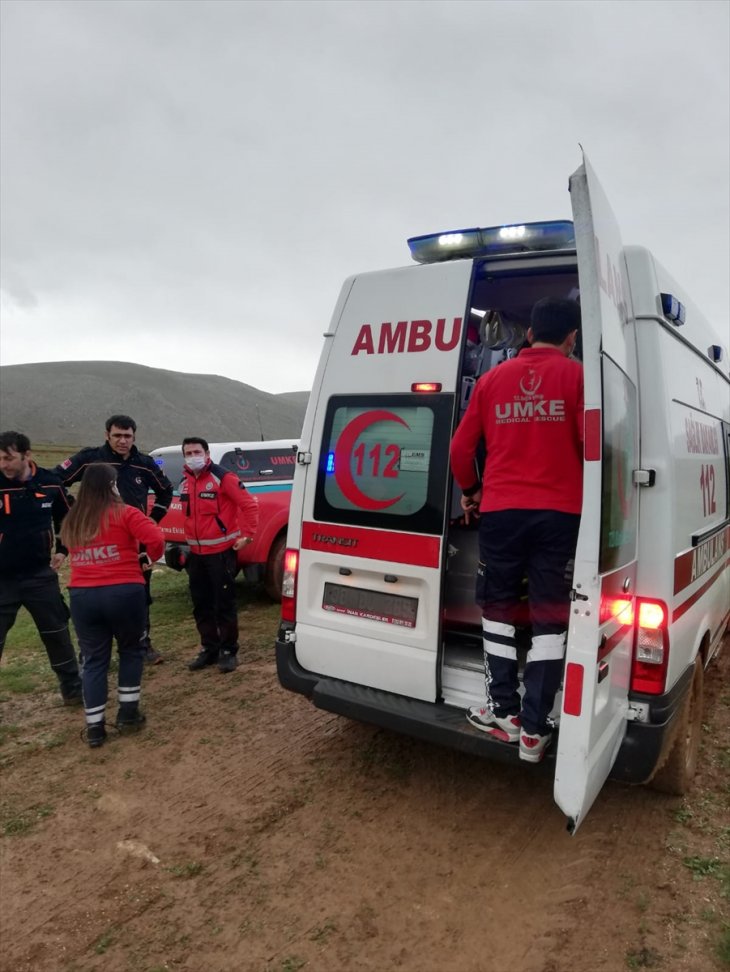
<path id="1" fill-rule="evenodd" d="M 56 573 L 67 553 L 58 531 L 68 509 L 58 477 L 31 458 L 28 437 L 1 432 L 0 657 L 5 637 L 25 607 L 45 645 L 63 701 L 74 705 L 81 702 L 81 679 Z"/>

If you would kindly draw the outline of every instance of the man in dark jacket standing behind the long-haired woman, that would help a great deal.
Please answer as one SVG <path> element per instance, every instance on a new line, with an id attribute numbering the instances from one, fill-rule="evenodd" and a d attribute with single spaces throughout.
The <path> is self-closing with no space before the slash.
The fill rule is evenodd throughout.
<path id="1" fill-rule="evenodd" d="M 106 442 L 103 446 L 82 449 L 65 462 L 56 466 L 54 472 L 61 477 L 61 482 L 68 487 L 81 482 L 86 469 L 95 462 L 107 462 L 117 471 L 117 488 L 127 504 L 147 514 L 147 496 L 149 491 L 155 494 L 155 503 L 149 511 L 149 516 L 159 523 L 167 513 L 172 502 L 172 483 L 159 468 L 152 456 L 140 452 L 134 444 L 137 423 L 128 415 L 112 415 L 106 420 Z M 148 665 L 157 665 L 162 655 L 155 651 L 150 642 L 149 605 L 151 571 L 145 571 L 147 590 L 147 631 L 145 633 L 145 660 Z"/>

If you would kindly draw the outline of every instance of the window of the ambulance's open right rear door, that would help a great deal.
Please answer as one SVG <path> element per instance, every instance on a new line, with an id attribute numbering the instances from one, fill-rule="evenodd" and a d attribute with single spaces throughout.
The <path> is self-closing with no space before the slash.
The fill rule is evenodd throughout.
<path id="1" fill-rule="evenodd" d="M 603 480 L 599 570 L 606 573 L 636 556 L 639 500 L 636 388 L 610 358 L 603 359 Z"/>

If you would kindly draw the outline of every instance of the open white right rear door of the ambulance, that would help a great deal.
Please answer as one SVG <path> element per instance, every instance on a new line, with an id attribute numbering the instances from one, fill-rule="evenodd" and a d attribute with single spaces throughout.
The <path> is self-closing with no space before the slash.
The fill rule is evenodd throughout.
<path id="1" fill-rule="evenodd" d="M 583 513 L 565 659 L 555 801 L 574 833 L 623 741 L 638 539 L 636 342 L 621 235 L 587 158 L 570 179 L 585 373 Z"/>

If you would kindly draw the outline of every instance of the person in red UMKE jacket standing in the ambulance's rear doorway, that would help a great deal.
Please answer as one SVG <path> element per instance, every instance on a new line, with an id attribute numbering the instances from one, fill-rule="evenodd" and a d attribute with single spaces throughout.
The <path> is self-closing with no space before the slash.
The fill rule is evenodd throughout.
<path id="1" fill-rule="evenodd" d="M 580 309 L 546 297 L 532 310 L 530 347 L 477 382 L 451 443 L 467 517 L 480 516 L 477 600 L 482 606 L 487 701 L 469 722 L 537 763 L 551 739 L 560 687 L 583 491 L 583 369 L 570 355 Z M 483 479 L 476 473 L 486 445 Z M 532 647 L 518 692 L 515 628 L 528 582 Z"/>

